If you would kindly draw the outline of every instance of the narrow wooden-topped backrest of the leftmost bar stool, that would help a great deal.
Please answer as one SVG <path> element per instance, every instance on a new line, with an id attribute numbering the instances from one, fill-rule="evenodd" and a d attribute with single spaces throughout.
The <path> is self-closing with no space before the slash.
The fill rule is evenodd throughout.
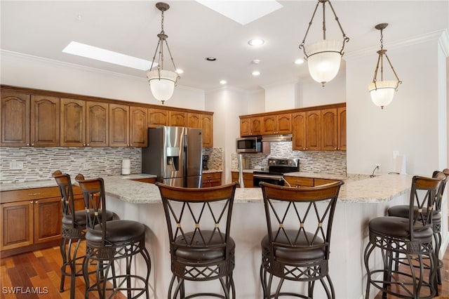
<path id="1" fill-rule="evenodd" d="M 67 173 L 62 173 L 61 171 L 55 171 L 52 173 L 53 178 L 58 184 L 59 191 L 61 194 L 62 202 L 62 217 L 67 219 L 72 219 L 71 227 L 75 225 L 75 202 L 72 190 L 72 181 L 70 180 L 70 175 Z M 67 222 L 65 222 L 67 225 Z"/>

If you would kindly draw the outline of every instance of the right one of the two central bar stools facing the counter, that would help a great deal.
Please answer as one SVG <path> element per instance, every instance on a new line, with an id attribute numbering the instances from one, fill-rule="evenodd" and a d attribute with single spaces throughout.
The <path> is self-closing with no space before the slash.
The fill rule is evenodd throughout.
<path id="1" fill-rule="evenodd" d="M 313 298 L 318 280 L 328 298 L 335 298 L 328 260 L 333 215 L 342 184 L 297 188 L 260 183 L 268 229 L 260 242 L 264 299 L 284 295 Z M 272 293 L 274 277 L 279 278 L 279 283 Z M 281 292 L 285 280 L 307 282 L 307 295 Z"/>

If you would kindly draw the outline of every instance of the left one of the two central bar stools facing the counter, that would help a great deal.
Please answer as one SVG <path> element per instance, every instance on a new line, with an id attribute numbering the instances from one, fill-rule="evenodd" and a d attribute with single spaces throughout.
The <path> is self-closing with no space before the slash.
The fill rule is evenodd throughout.
<path id="1" fill-rule="evenodd" d="M 171 187 L 160 182 L 156 185 L 161 192 L 170 241 L 173 276 L 168 298 L 179 295 L 235 299 L 232 272 L 236 244 L 229 230 L 237 183 L 208 188 Z M 220 280 L 224 295 L 206 292 L 185 295 L 185 281 L 215 279 Z"/>

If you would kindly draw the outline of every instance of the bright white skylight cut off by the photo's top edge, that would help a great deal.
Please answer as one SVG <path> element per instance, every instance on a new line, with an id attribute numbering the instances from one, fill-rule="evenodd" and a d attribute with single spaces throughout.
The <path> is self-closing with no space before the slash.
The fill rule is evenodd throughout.
<path id="1" fill-rule="evenodd" d="M 277 1 L 210 1 L 196 0 L 199 4 L 206 6 L 217 13 L 225 15 L 241 25 L 246 25 L 253 20 L 262 18 L 273 11 L 283 7 Z"/>

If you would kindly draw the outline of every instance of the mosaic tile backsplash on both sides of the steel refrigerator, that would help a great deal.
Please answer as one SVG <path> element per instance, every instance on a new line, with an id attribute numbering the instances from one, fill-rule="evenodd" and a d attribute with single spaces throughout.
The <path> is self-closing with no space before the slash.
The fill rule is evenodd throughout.
<path id="1" fill-rule="evenodd" d="M 210 169 L 223 169 L 221 147 L 204 148 Z M 0 147 L 0 183 L 46 180 L 60 170 L 87 177 L 121 174 L 121 160 L 130 159 L 131 173 L 142 172 L 140 147 Z M 22 169 L 11 169 L 21 162 Z"/>

